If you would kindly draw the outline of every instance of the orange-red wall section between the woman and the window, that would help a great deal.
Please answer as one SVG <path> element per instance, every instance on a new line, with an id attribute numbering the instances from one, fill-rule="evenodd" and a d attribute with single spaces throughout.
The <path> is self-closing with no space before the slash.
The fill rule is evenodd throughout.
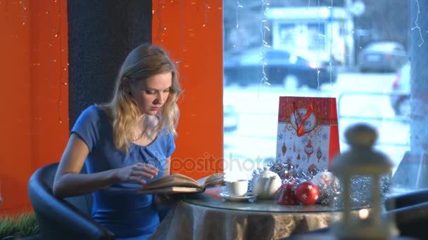
<path id="1" fill-rule="evenodd" d="M 180 71 L 184 93 L 172 172 L 201 178 L 223 169 L 222 1 L 153 0 L 153 44 Z"/>

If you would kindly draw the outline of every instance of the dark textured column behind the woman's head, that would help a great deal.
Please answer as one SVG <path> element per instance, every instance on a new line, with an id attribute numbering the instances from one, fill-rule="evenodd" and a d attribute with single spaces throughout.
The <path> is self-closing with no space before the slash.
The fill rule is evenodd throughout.
<path id="1" fill-rule="evenodd" d="M 89 105 L 107 102 L 120 64 L 151 42 L 151 1 L 68 1 L 70 129 Z"/>

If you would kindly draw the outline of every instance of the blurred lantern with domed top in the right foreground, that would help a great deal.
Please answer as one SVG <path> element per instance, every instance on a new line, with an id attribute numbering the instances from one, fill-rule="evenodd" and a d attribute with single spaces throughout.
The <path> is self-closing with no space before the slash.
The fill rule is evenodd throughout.
<path id="1" fill-rule="evenodd" d="M 356 124 L 345 133 L 350 145 L 347 152 L 339 154 L 332 160 L 331 170 L 339 177 L 344 185 L 343 205 L 344 215 L 341 221 L 333 227 L 333 232 L 339 238 L 356 239 L 388 239 L 391 236 L 389 222 L 382 218 L 380 178 L 391 173 L 391 161 L 372 149 L 377 140 L 377 132 L 366 124 Z M 372 177 L 371 211 L 365 219 L 351 215 L 351 178 L 357 175 Z"/>

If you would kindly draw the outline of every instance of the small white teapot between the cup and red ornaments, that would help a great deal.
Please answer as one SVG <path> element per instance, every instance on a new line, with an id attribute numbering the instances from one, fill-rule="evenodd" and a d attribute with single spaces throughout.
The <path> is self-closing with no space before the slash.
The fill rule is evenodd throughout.
<path id="1" fill-rule="evenodd" d="M 269 170 L 270 167 L 265 166 L 263 172 L 253 176 L 251 188 L 253 193 L 257 194 L 259 199 L 273 199 L 275 192 L 281 187 L 282 181 L 277 173 Z"/>

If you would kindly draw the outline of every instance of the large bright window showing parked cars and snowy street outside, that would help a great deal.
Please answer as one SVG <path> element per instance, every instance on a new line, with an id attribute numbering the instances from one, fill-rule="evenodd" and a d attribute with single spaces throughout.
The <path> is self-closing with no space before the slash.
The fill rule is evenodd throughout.
<path id="1" fill-rule="evenodd" d="M 415 3 L 224 2 L 224 34 L 236 34 L 224 42 L 226 172 L 250 176 L 260 164 L 275 159 L 278 98 L 294 95 L 336 98 L 341 151 L 348 147 L 346 128 L 365 122 L 377 129 L 375 149 L 393 161 L 393 173 L 416 178 L 401 164 L 410 151 L 413 123 L 409 57 L 410 18 L 415 20 L 410 4 Z M 245 36 L 251 41 L 237 41 Z M 279 51 L 298 61 L 272 63 Z M 228 57 L 232 53 L 233 59 Z M 310 67 L 325 71 L 325 81 L 314 85 L 319 76 L 301 74 Z M 417 188 L 415 180 L 401 183 L 396 187 Z"/>

